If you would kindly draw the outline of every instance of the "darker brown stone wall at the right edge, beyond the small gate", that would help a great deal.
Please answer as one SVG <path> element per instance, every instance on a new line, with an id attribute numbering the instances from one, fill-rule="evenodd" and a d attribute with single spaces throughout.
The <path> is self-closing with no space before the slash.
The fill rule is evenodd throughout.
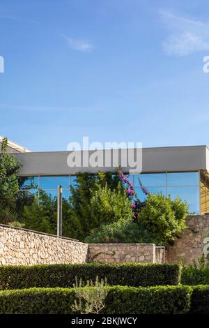
<path id="1" fill-rule="evenodd" d="M 209 254 L 209 215 L 187 217 L 188 228 L 173 246 L 167 247 L 167 262 L 192 263 L 194 259 Z"/>

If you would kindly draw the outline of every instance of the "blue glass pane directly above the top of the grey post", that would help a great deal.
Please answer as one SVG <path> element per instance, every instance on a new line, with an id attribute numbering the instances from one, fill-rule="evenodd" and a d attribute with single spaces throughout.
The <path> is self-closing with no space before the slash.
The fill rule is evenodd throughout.
<path id="1" fill-rule="evenodd" d="M 70 177 L 68 175 L 61 177 L 40 177 L 40 189 L 56 189 L 59 185 L 63 188 L 69 188 Z"/>

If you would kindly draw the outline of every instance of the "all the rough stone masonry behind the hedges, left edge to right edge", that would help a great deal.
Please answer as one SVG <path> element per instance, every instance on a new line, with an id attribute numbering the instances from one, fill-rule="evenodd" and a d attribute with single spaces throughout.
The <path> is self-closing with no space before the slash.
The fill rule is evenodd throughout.
<path id="1" fill-rule="evenodd" d="M 188 216 L 187 228 L 173 246 L 155 244 L 85 244 L 26 229 L 0 225 L 1 264 L 55 264 L 84 262 L 192 263 L 203 253 L 209 258 L 209 215 Z M 208 259 L 209 260 L 209 259 Z"/>

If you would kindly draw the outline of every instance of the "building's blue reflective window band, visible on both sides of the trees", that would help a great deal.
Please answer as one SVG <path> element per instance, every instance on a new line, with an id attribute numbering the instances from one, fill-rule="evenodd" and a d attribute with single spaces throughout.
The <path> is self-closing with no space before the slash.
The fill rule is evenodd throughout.
<path id="1" fill-rule="evenodd" d="M 127 174 L 127 178 L 134 184 L 139 200 L 144 201 L 146 195 L 141 191 L 144 187 L 149 193 L 162 195 L 170 194 L 172 199 L 177 195 L 189 203 L 191 213 L 205 214 L 209 212 L 209 179 L 201 174 L 199 189 L 199 172 L 160 172 L 146 174 Z M 76 186 L 76 175 L 48 176 L 48 177 L 18 177 L 20 190 L 28 190 L 38 195 L 44 191 L 53 198 L 57 195 L 57 186 L 63 187 L 63 199 L 70 197 L 70 187 Z M 201 206 L 200 204 L 201 203 Z"/>

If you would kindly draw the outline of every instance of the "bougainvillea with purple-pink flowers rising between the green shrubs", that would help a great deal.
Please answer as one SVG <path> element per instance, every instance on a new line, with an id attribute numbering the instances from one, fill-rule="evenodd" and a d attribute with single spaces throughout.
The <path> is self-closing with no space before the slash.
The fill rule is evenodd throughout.
<path id="1" fill-rule="evenodd" d="M 125 190 L 127 192 L 127 195 L 130 197 L 130 200 L 132 200 L 132 211 L 133 211 L 133 220 L 134 222 L 138 222 L 138 216 L 141 211 L 141 208 L 145 206 L 145 202 L 141 202 L 139 200 L 139 196 L 137 195 L 136 191 L 134 191 L 134 185 L 128 179 L 123 172 L 118 169 L 118 174 L 120 176 L 122 184 L 125 186 Z M 141 191 L 148 195 L 149 192 L 144 188 L 144 186 L 141 184 L 141 181 L 139 180 L 139 184 L 141 186 Z"/>

